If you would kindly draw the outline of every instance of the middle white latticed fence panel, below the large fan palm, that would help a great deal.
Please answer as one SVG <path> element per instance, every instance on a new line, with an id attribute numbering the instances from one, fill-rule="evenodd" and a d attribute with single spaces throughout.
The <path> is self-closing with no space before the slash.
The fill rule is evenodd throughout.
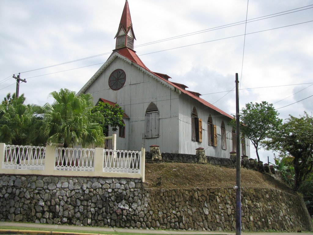
<path id="1" fill-rule="evenodd" d="M 55 170 L 94 171 L 95 149 L 55 149 Z"/>

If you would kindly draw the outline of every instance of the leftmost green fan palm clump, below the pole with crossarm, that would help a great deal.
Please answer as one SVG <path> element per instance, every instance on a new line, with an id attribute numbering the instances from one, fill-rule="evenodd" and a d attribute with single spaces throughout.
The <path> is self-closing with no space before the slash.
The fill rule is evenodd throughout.
<path id="1" fill-rule="evenodd" d="M 36 105 L 25 105 L 23 95 L 18 98 L 8 93 L 0 105 L 0 142 L 14 145 L 31 144 L 30 133 L 37 119 Z"/>

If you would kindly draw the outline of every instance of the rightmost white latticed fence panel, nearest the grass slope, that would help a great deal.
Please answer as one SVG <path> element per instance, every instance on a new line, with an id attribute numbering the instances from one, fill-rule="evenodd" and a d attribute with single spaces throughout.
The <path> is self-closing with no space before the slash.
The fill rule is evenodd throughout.
<path id="1" fill-rule="evenodd" d="M 140 173 L 140 151 L 103 150 L 103 171 Z"/>

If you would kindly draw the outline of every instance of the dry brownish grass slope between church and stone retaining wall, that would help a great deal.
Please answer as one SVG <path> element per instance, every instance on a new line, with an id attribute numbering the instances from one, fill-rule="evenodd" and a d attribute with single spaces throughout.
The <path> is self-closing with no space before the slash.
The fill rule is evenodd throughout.
<path id="1" fill-rule="evenodd" d="M 152 188 L 210 188 L 236 185 L 236 169 L 211 164 L 146 163 L 145 181 Z M 273 177 L 241 168 L 242 187 L 277 188 L 291 192 Z"/>

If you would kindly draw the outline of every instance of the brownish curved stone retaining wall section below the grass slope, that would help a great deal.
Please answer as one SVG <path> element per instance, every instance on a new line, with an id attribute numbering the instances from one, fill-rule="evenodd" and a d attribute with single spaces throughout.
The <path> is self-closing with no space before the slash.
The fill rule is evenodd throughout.
<path id="1" fill-rule="evenodd" d="M 235 231 L 236 192 L 232 188 L 148 191 L 157 227 Z M 243 189 L 241 215 L 243 231 L 313 229 L 302 198 L 280 190 Z"/>

